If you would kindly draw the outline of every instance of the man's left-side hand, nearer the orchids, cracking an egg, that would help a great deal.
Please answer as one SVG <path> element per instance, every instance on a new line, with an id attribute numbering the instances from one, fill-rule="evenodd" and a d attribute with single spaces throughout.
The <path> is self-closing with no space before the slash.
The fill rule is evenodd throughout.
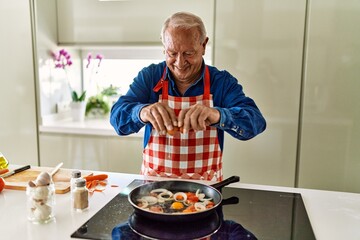
<path id="1" fill-rule="evenodd" d="M 167 104 L 159 102 L 141 109 L 140 118 L 143 122 L 150 122 L 162 135 L 165 135 L 167 130 L 173 130 L 173 126 L 178 125 L 174 110 Z"/>

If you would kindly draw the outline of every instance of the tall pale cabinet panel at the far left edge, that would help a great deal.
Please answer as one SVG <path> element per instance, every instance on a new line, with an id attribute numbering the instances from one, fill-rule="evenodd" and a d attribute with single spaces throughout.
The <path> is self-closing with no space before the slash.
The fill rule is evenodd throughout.
<path id="1" fill-rule="evenodd" d="M 38 165 L 31 1 L 0 1 L 0 152 Z"/>

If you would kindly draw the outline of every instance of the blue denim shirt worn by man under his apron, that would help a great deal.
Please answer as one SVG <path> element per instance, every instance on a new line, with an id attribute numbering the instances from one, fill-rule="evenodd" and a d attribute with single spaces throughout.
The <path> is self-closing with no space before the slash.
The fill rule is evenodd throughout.
<path id="1" fill-rule="evenodd" d="M 202 76 L 186 90 L 184 97 L 204 93 L 204 66 L 203 62 Z M 126 95 L 121 96 L 111 108 L 110 123 L 118 135 L 136 133 L 146 126 L 144 148 L 149 141 L 152 125 L 141 121 L 140 110 L 144 106 L 158 102 L 161 90 L 154 92 L 153 88 L 160 80 L 165 67 L 166 62 L 164 61 L 143 68 L 130 85 Z M 221 150 L 224 145 L 224 131 L 240 140 L 251 139 L 263 132 L 266 128 L 266 121 L 255 102 L 245 96 L 237 79 L 227 71 L 220 71 L 213 66 L 208 67 L 210 93 L 213 95 L 214 107 L 219 110 L 221 116 L 219 123 L 213 125 L 218 130 Z M 167 67 L 166 76 L 169 80 L 169 95 L 181 96 Z"/>

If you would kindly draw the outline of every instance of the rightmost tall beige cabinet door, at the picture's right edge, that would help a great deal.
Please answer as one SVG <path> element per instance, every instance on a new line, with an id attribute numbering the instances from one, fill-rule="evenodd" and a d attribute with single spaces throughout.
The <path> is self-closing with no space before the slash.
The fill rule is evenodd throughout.
<path id="1" fill-rule="evenodd" d="M 299 186 L 360 193 L 360 1 L 310 1 Z"/>

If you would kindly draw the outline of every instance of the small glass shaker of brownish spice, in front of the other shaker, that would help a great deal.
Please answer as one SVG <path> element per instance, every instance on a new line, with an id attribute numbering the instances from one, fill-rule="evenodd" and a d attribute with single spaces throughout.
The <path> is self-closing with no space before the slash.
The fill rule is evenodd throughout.
<path id="1" fill-rule="evenodd" d="M 85 179 L 77 179 L 75 182 L 75 188 L 71 192 L 72 207 L 77 212 L 82 212 L 89 208 L 89 191 L 85 187 L 85 184 Z"/>

